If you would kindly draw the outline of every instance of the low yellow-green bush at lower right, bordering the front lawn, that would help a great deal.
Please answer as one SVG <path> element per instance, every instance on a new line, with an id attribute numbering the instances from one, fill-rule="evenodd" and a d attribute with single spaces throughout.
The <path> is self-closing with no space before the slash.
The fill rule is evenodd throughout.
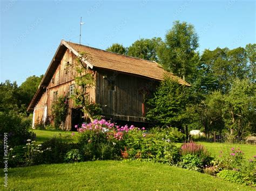
<path id="1" fill-rule="evenodd" d="M 223 171 L 220 171 L 217 174 L 217 176 L 220 179 L 227 180 L 230 182 L 244 183 L 244 180 L 242 179 L 242 173 L 238 171 L 223 170 Z"/>

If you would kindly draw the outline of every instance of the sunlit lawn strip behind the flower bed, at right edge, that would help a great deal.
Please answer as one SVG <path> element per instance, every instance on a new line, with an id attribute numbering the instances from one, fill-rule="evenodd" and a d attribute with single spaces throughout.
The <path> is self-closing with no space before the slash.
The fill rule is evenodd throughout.
<path id="1" fill-rule="evenodd" d="M 256 145 L 250 144 L 231 144 L 231 143 L 206 143 L 206 142 L 197 142 L 204 145 L 207 148 L 207 151 L 211 153 L 213 157 L 220 158 L 220 151 L 223 151 L 225 154 L 231 153 L 231 148 L 240 148 L 244 152 L 244 157 L 246 159 L 253 159 L 253 156 L 256 155 Z M 176 143 L 176 146 L 181 146 L 181 143 Z"/>

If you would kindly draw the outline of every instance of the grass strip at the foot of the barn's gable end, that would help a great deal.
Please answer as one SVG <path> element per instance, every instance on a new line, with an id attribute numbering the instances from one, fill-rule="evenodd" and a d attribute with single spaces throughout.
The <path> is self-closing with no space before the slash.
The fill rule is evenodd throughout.
<path id="1" fill-rule="evenodd" d="M 76 143 L 78 140 L 78 132 L 73 131 L 57 131 L 57 130 L 31 130 L 32 132 L 36 133 L 36 143 L 42 143 L 46 140 L 49 140 L 53 137 L 62 137 L 68 140 L 68 142 Z M 75 135 L 72 135 L 75 133 Z"/>

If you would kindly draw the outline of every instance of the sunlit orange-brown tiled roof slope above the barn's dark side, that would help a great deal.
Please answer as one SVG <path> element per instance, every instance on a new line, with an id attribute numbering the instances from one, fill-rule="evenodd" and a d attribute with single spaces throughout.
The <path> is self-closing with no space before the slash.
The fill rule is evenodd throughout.
<path id="1" fill-rule="evenodd" d="M 87 55 L 87 59 L 89 58 L 88 61 L 93 67 L 150 77 L 156 80 L 163 80 L 164 75 L 169 75 L 173 79 L 177 79 L 180 84 L 190 86 L 189 83 L 174 74 L 166 72 L 163 67 L 155 61 L 143 60 L 132 56 L 103 51 L 102 49 L 70 43 L 68 41 L 64 41 L 64 43 L 68 44 L 78 53 L 85 53 Z"/>

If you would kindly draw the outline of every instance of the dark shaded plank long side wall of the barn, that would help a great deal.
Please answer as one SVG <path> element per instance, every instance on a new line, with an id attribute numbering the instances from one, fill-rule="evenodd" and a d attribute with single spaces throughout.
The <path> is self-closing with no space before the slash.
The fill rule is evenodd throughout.
<path id="1" fill-rule="evenodd" d="M 107 81 L 115 81 L 115 90 L 107 88 Z M 143 115 L 143 93 L 149 98 L 158 82 L 143 77 L 97 69 L 96 103 L 102 105 L 107 118 L 145 122 Z M 145 112 L 147 105 L 145 103 Z"/>

